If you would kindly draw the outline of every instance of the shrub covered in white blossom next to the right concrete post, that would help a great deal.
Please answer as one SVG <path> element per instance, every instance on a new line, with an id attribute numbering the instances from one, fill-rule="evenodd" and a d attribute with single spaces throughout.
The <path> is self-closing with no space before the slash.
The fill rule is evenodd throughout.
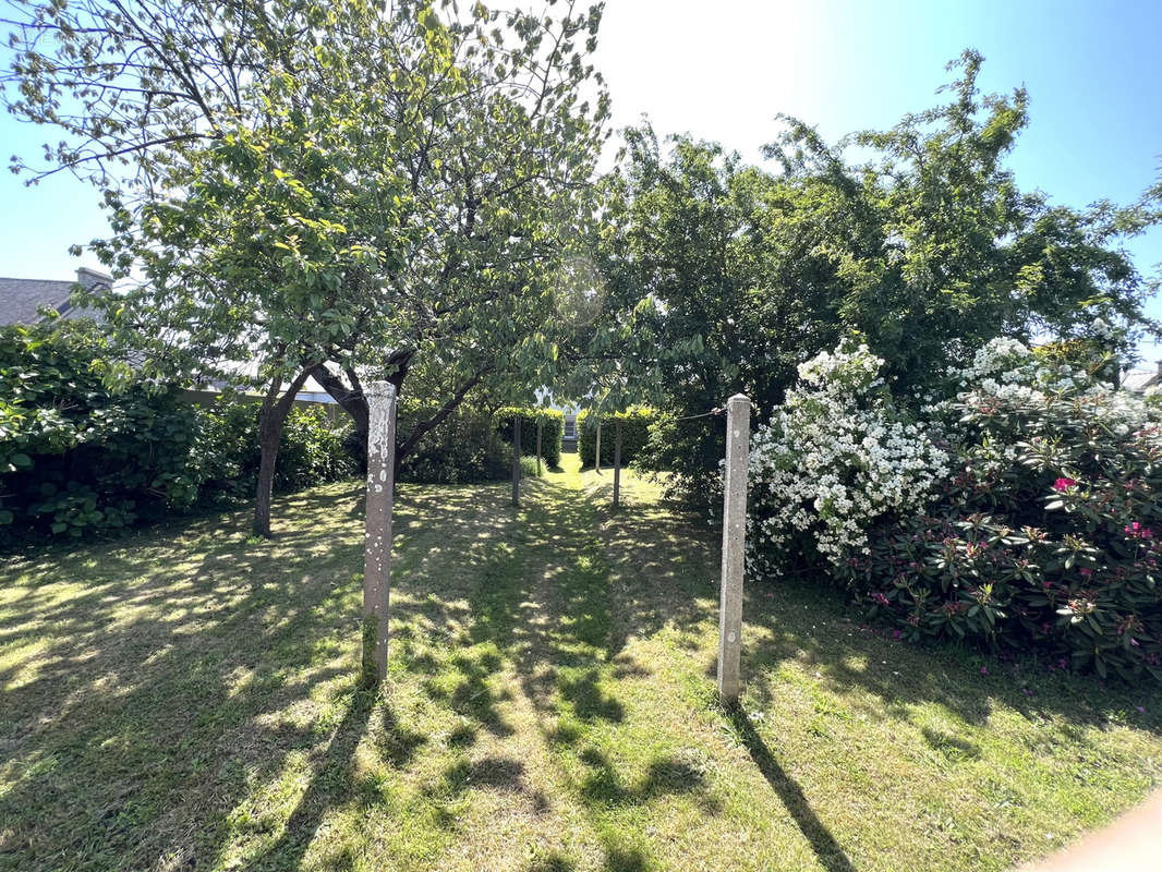
<path id="1" fill-rule="evenodd" d="M 840 564 L 867 549 L 871 521 L 923 505 L 948 456 L 896 410 L 883 360 L 840 345 L 799 366 L 799 387 L 760 427 L 751 451 L 749 539 L 759 551 L 797 534 Z"/>

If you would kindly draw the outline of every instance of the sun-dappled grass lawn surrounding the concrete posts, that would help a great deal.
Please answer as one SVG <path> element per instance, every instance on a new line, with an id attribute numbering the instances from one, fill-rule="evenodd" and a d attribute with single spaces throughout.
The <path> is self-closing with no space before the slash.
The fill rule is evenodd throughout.
<path id="1" fill-rule="evenodd" d="M 404 485 L 359 692 L 357 483 L 0 564 L 0 869 L 1004 869 L 1162 782 L 1162 694 L 861 629 L 630 477 Z M 572 465 L 569 465 L 572 464 Z M 1139 712 L 1141 706 L 1145 713 Z"/>

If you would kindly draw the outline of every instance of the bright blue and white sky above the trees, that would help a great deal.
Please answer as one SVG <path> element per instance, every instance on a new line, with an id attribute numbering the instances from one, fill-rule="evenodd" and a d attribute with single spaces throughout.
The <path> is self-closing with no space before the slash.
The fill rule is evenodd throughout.
<path id="1" fill-rule="evenodd" d="M 1162 0 L 608 0 L 595 63 L 616 124 L 647 115 L 659 134 L 758 163 L 779 113 L 835 140 L 935 105 L 945 64 L 967 48 L 984 56 L 982 90 L 1028 90 L 1010 158 L 1021 190 L 1077 208 L 1131 203 L 1162 176 Z M 5 115 L 0 156 L 35 157 L 51 135 Z M 96 200 L 65 176 L 28 188 L 0 174 L 0 276 L 96 266 L 67 253 L 105 234 Z M 1128 248 L 1141 272 L 1162 270 L 1162 229 Z M 1162 319 L 1162 299 L 1148 312 Z"/>

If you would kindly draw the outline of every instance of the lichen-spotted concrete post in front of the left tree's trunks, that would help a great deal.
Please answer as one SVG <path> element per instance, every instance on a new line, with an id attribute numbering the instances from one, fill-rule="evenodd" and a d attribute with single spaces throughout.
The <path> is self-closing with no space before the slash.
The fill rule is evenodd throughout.
<path id="1" fill-rule="evenodd" d="M 395 385 L 372 381 L 367 398 L 367 527 L 364 541 L 363 679 L 387 677 L 392 591 L 392 502 L 395 489 Z"/>

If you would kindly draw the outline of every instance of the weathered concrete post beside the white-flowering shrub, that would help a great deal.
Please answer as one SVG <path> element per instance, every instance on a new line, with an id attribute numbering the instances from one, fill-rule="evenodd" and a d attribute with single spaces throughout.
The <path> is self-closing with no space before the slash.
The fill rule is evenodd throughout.
<path id="1" fill-rule="evenodd" d="M 718 695 L 738 702 L 743 650 L 743 571 L 746 566 L 746 476 L 751 455 L 751 401 L 726 401 L 726 480 L 723 499 L 722 600 L 718 607 Z"/>

